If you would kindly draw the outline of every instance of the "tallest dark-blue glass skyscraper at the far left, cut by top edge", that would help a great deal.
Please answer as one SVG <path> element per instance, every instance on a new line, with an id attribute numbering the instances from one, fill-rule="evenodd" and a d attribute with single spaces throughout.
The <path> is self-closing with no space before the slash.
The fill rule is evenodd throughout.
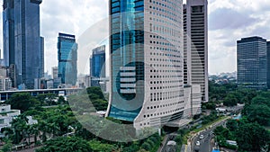
<path id="1" fill-rule="evenodd" d="M 16 85 L 34 87 L 40 78 L 41 0 L 4 0 L 4 65 L 16 67 Z"/>

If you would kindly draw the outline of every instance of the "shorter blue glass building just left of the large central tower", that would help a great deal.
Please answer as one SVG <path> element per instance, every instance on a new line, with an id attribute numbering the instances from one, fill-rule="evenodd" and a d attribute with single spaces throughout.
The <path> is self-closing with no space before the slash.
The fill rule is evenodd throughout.
<path id="1" fill-rule="evenodd" d="M 93 53 L 90 58 L 91 86 L 99 86 L 100 78 L 106 77 L 105 49 L 105 45 L 93 49 Z"/>

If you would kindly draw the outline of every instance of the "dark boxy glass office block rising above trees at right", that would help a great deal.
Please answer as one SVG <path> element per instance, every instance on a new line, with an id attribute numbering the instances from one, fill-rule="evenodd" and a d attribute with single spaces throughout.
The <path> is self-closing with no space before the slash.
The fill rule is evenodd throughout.
<path id="1" fill-rule="evenodd" d="M 261 37 L 238 40 L 238 84 L 254 88 L 266 88 L 267 47 Z"/>

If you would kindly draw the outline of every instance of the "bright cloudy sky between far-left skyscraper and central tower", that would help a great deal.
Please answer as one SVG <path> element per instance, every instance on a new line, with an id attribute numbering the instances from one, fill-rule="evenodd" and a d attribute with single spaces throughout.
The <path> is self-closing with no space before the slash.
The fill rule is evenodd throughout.
<path id="1" fill-rule="evenodd" d="M 51 67 L 58 66 L 58 32 L 74 34 L 78 40 L 89 27 L 108 16 L 107 8 L 107 0 L 98 2 L 96 0 L 46 0 L 40 4 L 40 31 L 45 37 L 45 68 L 49 73 Z M 98 35 L 98 33 L 94 34 Z M 92 42 L 93 39 L 89 41 L 89 43 Z M 84 60 L 89 58 L 88 55 L 81 55 L 78 50 L 78 60 L 81 60 L 81 57 L 84 57 Z M 83 73 L 85 69 L 81 65 L 81 63 L 78 64 L 79 73 Z"/>

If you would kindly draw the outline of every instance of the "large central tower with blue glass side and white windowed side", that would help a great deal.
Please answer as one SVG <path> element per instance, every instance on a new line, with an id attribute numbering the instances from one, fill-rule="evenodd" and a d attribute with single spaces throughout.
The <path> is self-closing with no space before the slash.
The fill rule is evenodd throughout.
<path id="1" fill-rule="evenodd" d="M 182 0 L 110 0 L 107 116 L 136 129 L 184 115 Z"/>

